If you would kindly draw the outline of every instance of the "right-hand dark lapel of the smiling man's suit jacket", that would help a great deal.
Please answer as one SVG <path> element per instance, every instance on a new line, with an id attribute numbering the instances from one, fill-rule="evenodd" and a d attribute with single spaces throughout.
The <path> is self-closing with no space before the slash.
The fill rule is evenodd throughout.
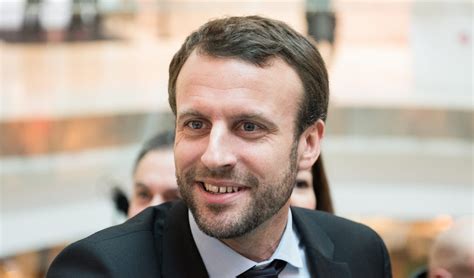
<path id="1" fill-rule="evenodd" d="M 346 263 L 333 260 L 334 243 L 314 217 L 304 209 L 291 208 L 293 222 L 305 246 L 308 268 L 316 277 L 351 277 Z"/>

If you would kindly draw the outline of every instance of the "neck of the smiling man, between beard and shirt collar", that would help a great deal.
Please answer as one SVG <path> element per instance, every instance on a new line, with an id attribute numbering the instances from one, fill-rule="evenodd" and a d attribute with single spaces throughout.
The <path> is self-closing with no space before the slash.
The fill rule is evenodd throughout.
<path id="1" fill-rule="evenodd" d="M 221 239 L 221 241 L 252 261 L 268 260 L 275 253 L 285 231 L 289 207 L 288 202 L 274 216 L 253 231 L 241 237 Z"/>

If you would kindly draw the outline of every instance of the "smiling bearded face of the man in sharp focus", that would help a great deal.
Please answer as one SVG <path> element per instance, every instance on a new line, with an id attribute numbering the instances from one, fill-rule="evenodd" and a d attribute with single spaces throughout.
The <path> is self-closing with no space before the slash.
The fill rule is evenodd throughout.
<path id="1" fill-rule="evenodd" d="M 242 236 L 288 210 L 302 92 L 280 59 L 260 68 L 195 52 L 188 58 L 176 87 L 176 176 L 205 233 Z"/>

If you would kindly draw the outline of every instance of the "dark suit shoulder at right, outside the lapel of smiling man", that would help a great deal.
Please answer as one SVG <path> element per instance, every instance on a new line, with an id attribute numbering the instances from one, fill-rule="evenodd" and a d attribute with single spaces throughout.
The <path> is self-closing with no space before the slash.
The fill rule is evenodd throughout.
<path id="1" fill-rule="evenodd" d="M 385 243 L 370 227 L 321 211 L 292 208 L 292 212 L 305 244 L 346 263 L 353 277 L 391 277 Z"/>

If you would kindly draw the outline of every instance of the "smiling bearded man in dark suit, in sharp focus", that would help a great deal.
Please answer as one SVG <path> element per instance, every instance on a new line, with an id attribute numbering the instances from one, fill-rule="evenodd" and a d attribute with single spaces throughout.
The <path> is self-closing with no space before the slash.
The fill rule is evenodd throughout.
<path id="1" fill-rule="evenodd" d="M 375 232 L 290 209 L 297 171 L 320 152 L 328 91 L 321 56 L 286 24 L 205 24 L 170 64 L 183 201 L 74 243 L 48 277 L 391 277 Z"/>

